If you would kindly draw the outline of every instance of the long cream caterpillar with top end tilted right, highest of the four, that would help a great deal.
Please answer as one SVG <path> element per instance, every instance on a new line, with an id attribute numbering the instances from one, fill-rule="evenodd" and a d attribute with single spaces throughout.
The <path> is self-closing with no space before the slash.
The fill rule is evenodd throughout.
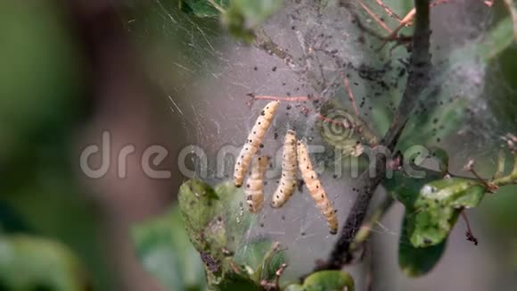
<path id="1" fill-rule="evenodd" d="M 237 157 L 235 161 L 235 169 L 234 169 L 234 185 L 235 187 L 242 186 L 242 180 L 244 179 L 244 173 L 248 170 L 250 166 L 251 157 L 254 154 L 257 154 L 259 150 L 259 145 L 262 142 L 262 139 L 266 135 L 267 129 L 271 125 L 271 121 L 273 120 L 273 116 L 275 115 L 276 108 L 278 108 L 279 101 L 272 101 L 264 107 L 262 112 L 260 112 L 259 118 L 255 122 L 255 125 L 251 129 L 248 138 L 246 139 L 246 143 L 242 146 L 241 153 Z"/>

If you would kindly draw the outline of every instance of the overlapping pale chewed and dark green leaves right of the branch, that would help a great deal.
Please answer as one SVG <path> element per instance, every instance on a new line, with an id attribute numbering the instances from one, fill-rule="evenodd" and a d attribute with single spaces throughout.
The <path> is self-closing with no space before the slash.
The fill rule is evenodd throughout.
<path id="1" fill-rule="evenodd" d="M 460 212 L 480 203 L 485 189 L 470 179 L 441 179 L 427 171 L 415 179 L 401 171 L 383 182 L 406 207 L 398 245 L 398 263 L 407 276 L 429 272 L 441 258 Z"/>

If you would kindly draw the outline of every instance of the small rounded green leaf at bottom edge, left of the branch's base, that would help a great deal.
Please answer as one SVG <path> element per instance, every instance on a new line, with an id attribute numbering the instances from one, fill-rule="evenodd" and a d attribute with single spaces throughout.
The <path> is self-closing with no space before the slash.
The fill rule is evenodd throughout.
<path id="1" fill-rule="evenodd" d="M 308 276 L 303 281 L 303 290 L 307 291 L 354 291 L 354 279 L 341 270 L 322 270 Z"/>

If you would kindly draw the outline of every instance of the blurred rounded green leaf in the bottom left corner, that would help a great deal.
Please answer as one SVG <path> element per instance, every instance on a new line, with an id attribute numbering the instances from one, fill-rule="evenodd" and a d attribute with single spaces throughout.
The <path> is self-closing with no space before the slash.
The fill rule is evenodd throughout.
<path id="1" fill-rule="evenodd" d="M 2 290 L 84 291 L 88 286 L 83 266 L 66 246 L 41 237 L 0 237 Z"/>

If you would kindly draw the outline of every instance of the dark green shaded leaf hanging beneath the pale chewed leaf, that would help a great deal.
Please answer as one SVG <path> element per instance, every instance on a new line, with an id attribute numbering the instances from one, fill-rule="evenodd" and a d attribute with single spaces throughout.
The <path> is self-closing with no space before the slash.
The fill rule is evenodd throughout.
<path id="1" fill-rule="evenodd" d="M 402 233 L 398 241 L 398 265 L 409 277 L 418 277 L 431 271 L 445 251 L 447 239 L 438 245 L 414 247 L 409 242 L 411 218 L 407 212 L 402 220 Z"/>

